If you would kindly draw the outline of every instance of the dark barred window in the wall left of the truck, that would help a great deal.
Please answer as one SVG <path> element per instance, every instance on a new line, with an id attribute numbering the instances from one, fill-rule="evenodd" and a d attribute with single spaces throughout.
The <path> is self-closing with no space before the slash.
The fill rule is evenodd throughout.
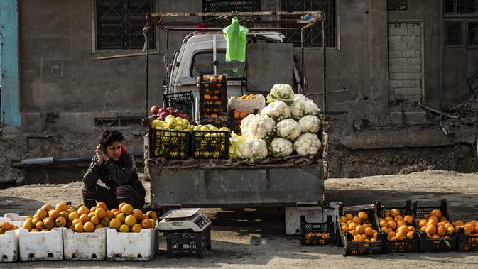
<path id="1" fill-rule="evenodd" d="M 97 50 L 142 49 L 146 13 L 153 12 L 154 0 L 96 0 Z M 149 48 L 155 48 L 150 28 Z"/>

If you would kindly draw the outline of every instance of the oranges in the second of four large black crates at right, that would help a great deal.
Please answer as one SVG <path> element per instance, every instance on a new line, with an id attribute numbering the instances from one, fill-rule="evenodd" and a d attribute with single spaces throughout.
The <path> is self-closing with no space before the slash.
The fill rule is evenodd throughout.
<path id="1" fill-rule="evenodd" d="M 402 216 L 398 209 L 386 210 L 379 217 L 380 230 L 389 241 L 413 239 L 413 216 Z"/>

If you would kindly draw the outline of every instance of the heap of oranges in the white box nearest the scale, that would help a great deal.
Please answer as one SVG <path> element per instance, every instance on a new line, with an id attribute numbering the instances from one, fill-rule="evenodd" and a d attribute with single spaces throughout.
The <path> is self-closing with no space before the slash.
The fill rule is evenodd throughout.
<path id="1" fill-rule="evenodd" d="M 118 209 L 112 209 L 113 219 L 109 222 L 109 228 L 120 232 L 139 233 L 142 229 L 150 229 L 156 226 L 156 212 L 148 211 L 144 214 L 141 209 L 133 209 L 131 204 L 121 203 Z"/>

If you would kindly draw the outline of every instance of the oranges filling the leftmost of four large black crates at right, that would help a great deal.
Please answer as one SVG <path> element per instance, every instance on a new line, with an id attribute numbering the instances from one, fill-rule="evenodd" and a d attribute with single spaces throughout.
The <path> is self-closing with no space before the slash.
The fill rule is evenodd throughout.
<path id="1" fill-rule="evenodd" d="M 346 214 L 340 217 L 342 231 L 352 234 L 352 241 L 375 242 L 379 232 L 374 229 L 369 215 L 366 212 L 359 212 L 357 216 Z"/>

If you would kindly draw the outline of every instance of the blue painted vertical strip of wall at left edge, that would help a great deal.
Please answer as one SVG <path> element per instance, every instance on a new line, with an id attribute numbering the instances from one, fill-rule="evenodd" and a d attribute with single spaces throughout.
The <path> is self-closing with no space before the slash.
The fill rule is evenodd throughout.
<path id="1" fill-rule="evenodd" d="M 18 1 L 0 0 L 0 120 L 20 126 L 20 71 L 18 69 Z"/>

